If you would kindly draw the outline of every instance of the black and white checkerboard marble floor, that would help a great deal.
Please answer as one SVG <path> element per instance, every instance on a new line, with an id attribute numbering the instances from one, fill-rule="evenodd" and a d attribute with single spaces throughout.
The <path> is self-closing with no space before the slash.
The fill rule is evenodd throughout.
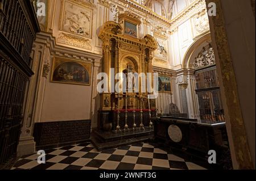
<path id="1" fill-rule="evenodd" d="M 32 170 L 203 170 L 204 168 L 150 143 L 137 143 L 97 151 L 90 143 L 46 150 L 46 163 L 37 162 L 38 154 L 27 155 L 12 169 Z"/>

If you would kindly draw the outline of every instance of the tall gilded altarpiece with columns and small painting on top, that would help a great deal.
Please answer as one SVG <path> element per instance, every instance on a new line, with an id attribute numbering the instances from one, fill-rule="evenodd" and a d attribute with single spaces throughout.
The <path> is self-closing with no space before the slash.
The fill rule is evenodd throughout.
<path id="1" fill-rule="evenodd" d="M 148 100 L 148 91 L 142 91 L 142 83 L 146 85 L 146 82 L 143 82 L 141 78 L 139 78 L 138 92 L 128 90 L 128 81 L 126 82 L 128 85 L 126 84 L 127 88 L 125 91 L 123 91 L 122 86 L 120 87 L 122 89 L 121 92 L 117 93 L 113 91 L 115 90 L 113 86 L 119 81 L 118 79 L 114 79 L 113 76 L 117 73 L 124 73 L 127 76 L 129 76 L 128 73 L 144 73 L 145 75 L 152 73 L 152 58 L 154 50 L 158 47 L 158 43 L 151 35 L 144 35 L 138 38 L 138 26 L 141 22 L 135 16 L 121 14 L 118 19 L 119 23 L 112 21 L 106 22 L 99 32 L 104 54 L 102 68 L 103 71 L 108 74 L 109 83 L 108 92 L 101 94 L 100 110 L 105 112 L 126 112 L 125 128 L 128 128 L 128 125 L 130 128 L 131 125 L 136 127 L 135 111 L 137 113 L 141 112 L 141 115 L 142 111 L 154 111 L 155 99 Z M 129 24 L 128 28 L 127 24 Z M 133 30 L 129 28 L 133 28 Z M 129 31 L 131 31 L 132 35 L 129 35 Z M 112 80 L 114 80 L 114 83 L 111 82 Z M 145 79 L 144 81 L 147 80 Z M 151 83 L 153 86 L 153 82 Z M 131 87 L 134 89 L 134 86 Z M 129 118 L 129 111 L 131 111 L 131 113 L 134 112 L 134 124 L 127 123 L 127 119 L 128 121 L 132 120 L 132 118 Z M 148 123 L 146 124 L 148 125 Z M 116 125 L 116 123 L 114 123 L 114 125 Z M 143 127 L 142 124 L 140 126 Z M 117 129 L 120 129 L 119 124 L 117 124 Z"/>

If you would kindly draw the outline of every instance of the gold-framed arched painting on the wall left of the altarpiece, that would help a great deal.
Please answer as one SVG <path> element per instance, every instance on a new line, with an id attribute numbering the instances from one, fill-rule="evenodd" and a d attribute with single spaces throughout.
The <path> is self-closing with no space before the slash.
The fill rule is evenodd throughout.
<path id="1" fill-rule="evenodd" d="M 91 70 L 89 63 L 54 57 L 51 82 L 89 86 Z"/>

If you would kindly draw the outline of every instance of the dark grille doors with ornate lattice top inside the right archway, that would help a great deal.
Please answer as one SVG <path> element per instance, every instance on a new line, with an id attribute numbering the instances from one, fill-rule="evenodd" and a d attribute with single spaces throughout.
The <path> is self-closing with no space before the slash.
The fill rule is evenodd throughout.
<path id="1" fill-rule="evenodd" d="M 210 43 L 193 60 L 193 67 L 201 122 L 225 121 L 214 51 Z"/>

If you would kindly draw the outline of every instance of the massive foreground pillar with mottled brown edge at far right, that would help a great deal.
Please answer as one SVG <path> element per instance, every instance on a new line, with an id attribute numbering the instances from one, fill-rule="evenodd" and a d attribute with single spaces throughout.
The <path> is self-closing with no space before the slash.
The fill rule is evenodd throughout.
<path id="1" fill-rule="evenodd" d="M 217 9 L 209 23 L 233 169 L 255 169 L 254 12 L 250 1 L 206 2 Z"/>

